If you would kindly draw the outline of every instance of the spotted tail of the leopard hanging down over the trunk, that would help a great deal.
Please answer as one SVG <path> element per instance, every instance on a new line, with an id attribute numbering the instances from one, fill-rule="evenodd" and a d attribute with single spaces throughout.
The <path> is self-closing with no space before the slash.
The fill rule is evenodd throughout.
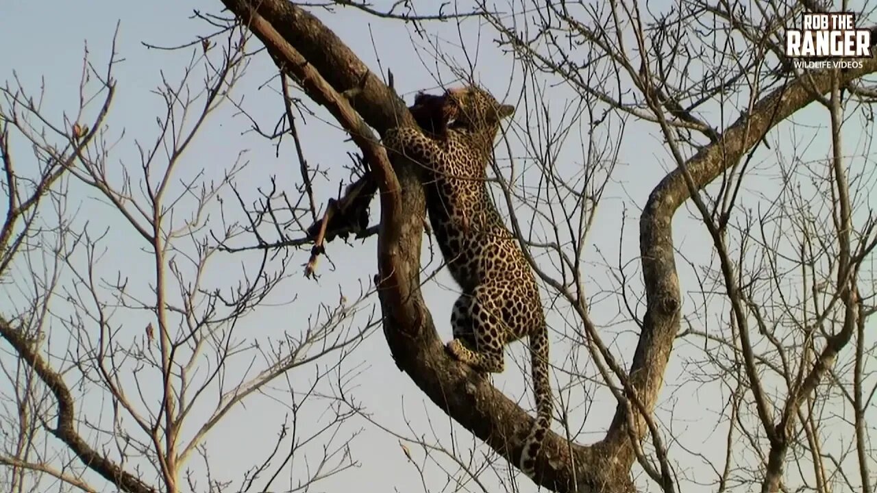
<path id="1" fill-rule="evenodd" d="M 548 331 L 545 326 L 530 335 L 531 372 L 533 397 L 536 401 L 536 422 L 524 440 L 520 469 L 533 477 L 536 459 L 542 449 L 545 435 L 551 429 L 552 391 L 548 365 Z"/>

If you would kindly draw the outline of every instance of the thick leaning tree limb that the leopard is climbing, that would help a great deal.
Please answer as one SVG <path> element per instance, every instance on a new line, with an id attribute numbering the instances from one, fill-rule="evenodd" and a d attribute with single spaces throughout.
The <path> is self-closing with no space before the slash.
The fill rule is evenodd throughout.
<path id="1" fill-rule="evenodd" d="M 275 62 L 303 82 L 318 104 L 336 104 L 305 76 L 295 53 L 301 54 L 335 92 L 378 132 L 414 124 L 395 92 L 359 61 L 341 40 L 317 18 L 283 0 L 223 0 L 267 46 Z M 282 38 L 282 39 L 281 39 Z M 283 46 L 288 44 L 289 46 Z M 290 49 L 291 48 L 291 49 Z M 318 85 L 318 84 L 317 84 Z M 407 121 L 406 121 L 407 120 Z M 346 125 L 341 122 L 342 125 Z M 355 126 L 346 125 L 350 132 Z M 360 135 L 366 135 L 361 129 Z M 370 138 L 368 139 L 370 140 Z M 363 150 L 367 152 L 366 149 Z M 378 263 L 384 332 L 396 364 L 448 415 L 513 463 L 521 452 L 532 418 L 517 404 L 445 353 L 431 314 L 420 293 L 420 252 L 423 237 L 424 195 L 417 168 L 403 160 L 393 162 L 402 191 L 402 206 L 387 207 L 389 182 L 381 180 L 381 234 Z M 598 445 L 570 447 L 552 434 L 545 441 L 538 482 L 557 491 L 588 491 L 600 484 L 629 484 L 626 468 L 611 466 L 611 454 Z M 573 465 L 579 468 L 574 472 Z M 575 482 L 579 484 L 576 485 Z"/>

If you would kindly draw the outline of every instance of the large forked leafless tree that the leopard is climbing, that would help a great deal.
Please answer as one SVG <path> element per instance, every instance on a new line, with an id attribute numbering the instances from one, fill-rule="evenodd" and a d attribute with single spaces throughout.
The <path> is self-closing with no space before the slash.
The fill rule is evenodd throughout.
<path id="1" fill-rule="evenodd" d="M 332 112 L 372 165 L 381 190 L 379 292 L 384 333 L 396 364 L 456 422 L 517 462 L 532 420 L 442 351 L 419 289 L 424 197 L 411 166 L 386 162 L 365 126 L 381 134 L 410 125 L 404 104 L 302 6 L 270 0 L 223 3 L 260 38 L 278 66 Z M 410 21 L 417 29 L 446 16 L 445 6 L 417 15 L 337 4 Z M 864 161 L 851 175 L 841 125 L 845 115 L 870 114 L 872 89 L 861 79 L 877 69 L 877 61 L 866 59 L 844 70 L 794 68 L 782 52 L 781 36 L 795 16 L 816 10 L 806 2 L 759 4 L 754 11 L 743 4 L 701 2 L 660 12 L 643 8 L 635 3 L 515 3 L 502 11 L 475 4 L 468 14 L 454 16 L 478 14 L 488 21 L 500 45 L 535 81 L 522 97 L 533 102 L 545 98 L 538 81 L 560 82 L 576 91 L 582 109 L 577 118 L 589 119 L 581 128 L 590 126 L 582 135 L 583 147 L 589 148 L 593 141 L 588 137 L 605 128 L 605 122 L 632 117 L 639 125 L 652 125 L 674 163 L 654 183 L 638 222 L 643 294 L 628 285 L 631 273 L 624 261 L 613 269 L 618 284 L 614 303 L 623 305 L 627 329 L 638 333 L 635 349 L 620 354 L 591 318 L 583 256 L 604 189 L 598 183 L 608 182 L 611 174 L 610 168 L 599 167 L 611 155 L 588 151 L 584 161 L 592 179 L 566 186 L 549 148 L 558 139 L 523 138 L 543 178 L 542 192 L 528 195 L 544 200 L 531 222 L 555 226 L 545 227 L 547 233 L 539 238 L 536 228 L 528 233 L 521 227 L 519 214 L 511 214 L 510 222 L 530 244 L 531 261 L 550 259 L 532 261 L 532 267 L 553 298 L 570 307 L 576 320 L 569 325 L 579 328 L 566 337 L 587 347 L 616 405 L 601 439 L 582 444 L 570 436 L 576 425 L 568 422 L 567 436 L 549 437 L 536 481 L 556 491 L 631 489 L 631 468 L 637 464 L 644 482 L 666 491 L 685 481 L 709 482 L 719 490 L 749 490 L 753 484 L 764 491 L 829 490 L 843 484 L 869 491 L 872 450 L 865 414 L 873 392 L 863 386 L 863 368 L 873 366 L 867 356 L 873 341 L 866 340 L 864 327 L 873 314 L 873 269 L 866 266 L 877 237 L 872 211 L 862 208 L 873 207 L 865 198 L 873 183 L 862 168 Z M 747 207 L 750 197 L 758 196 L 749 183 L 758 180 L 752 161 L 763 159 L 761 145 L 780 139 L 777 128 L 788 128 L 788 119 L 810 104 L 824 107 L 822 121 L 831 134 L 831 154 L 821 160 L 823 168 L 810 165 L 802 173 L 797 163 L 794 172 L 791 165 L 780 165 L 776 175 L 784 193 L 760 197 L 764 210 Z M 538 103 L 532 108 L 527 113 L 530 132 L 534 124 L 547 121 L 532 116 Z M 710 111 L 719 117 L 708 118 Z M 781 157 L 793 159 L 800 156 Z M 807 189 L 798 188 L 801 183 Z M 853 184 L 859 187 L 856 193 Z M 505 188 L 513 203 L 515 195 Z M 823 208 L 805 205 L 805 196 L 824 199 Z M 689 201 L 714 255 L 692 269 L 701 276 L 701 300 L 692 307 L 683 304 L 676 262 L 686 254 L 674 243 L 672 229 L 677 211 Z M 508 209 L 516 211 L 515 204 Z M 788 241 L 791 235 L 795 239 Z M 789 283 L 793 273 L 795 282 Z M 717 320 L 717 326 L 706 331 L 704 320 Z M 669 453 L 684 446 L 674 439 L 672 424 L 656 419 L 674 343 L 690 339 L 705 345 L 702 368 L 719 372 L 718 387 L 731 393 L 727 405 L 714 408 L 715 422 L 727 429 L 727 449 L 724 461 L 708 461 L 711 479 L 679 473 L 680 461 Z M 838 365 L 841 357 L 852 365 Z M 830 402 L 852 411 L 850 423 L 839 426 L 855 439 L 854 445 L 839 440 L 831 446 L 838 452 L 828 453 L 820 427 L 834 429 L 822 415 Z M 849 461 L 846 450 L 855 450 L 857 460 Z M 758 460 L 752 460 L 753 454 Z M 849 474 L 849 468 L 858 474 Z"/>

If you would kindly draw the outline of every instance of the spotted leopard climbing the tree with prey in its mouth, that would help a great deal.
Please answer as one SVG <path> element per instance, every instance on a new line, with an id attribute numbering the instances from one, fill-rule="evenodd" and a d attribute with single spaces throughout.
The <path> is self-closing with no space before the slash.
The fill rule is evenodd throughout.
<path id="1" fill-rule="evenodd" d="M 505 346 L 528 339 L 536 420 L 518 466 L 533 478 L 553 411 L 547 325 L 531 266 L 487 185 L 494 140 L 515 107 L 474 84 L 446 89 L 441 104 L 436 97 L 419 94 L 415 102 L 442 111 L 431 119 L 419 115 L 429 128 L 398 126 L 385 132 L 383 144 L 419 165 L 432 233 L 460 286 L 447 352 L 477 372 L 502 373 Z"/>

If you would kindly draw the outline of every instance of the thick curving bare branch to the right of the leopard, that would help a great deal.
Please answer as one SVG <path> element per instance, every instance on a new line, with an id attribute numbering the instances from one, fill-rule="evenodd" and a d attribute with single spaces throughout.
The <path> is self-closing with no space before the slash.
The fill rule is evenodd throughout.
<path id="1" fill-rule="evenodd" d="M 872 32 L 877 32 L 877 28 L 872 28 Z M 875 71 L 877 58 L 872 54 L 862 68 L 841 72 L 840 84 L 843 87 Z M 690 183 L 686 182 L 683 169 L 676 168 L 652 190 L 639 222 L 647 303 L 645 328 L 631 365 L 631 382 L 649 410 L 657 403 L 673 340 L 679 331 L 681 297 L 671 227 L 675 211 L 690 198 L 691 189 L 702 189 L 715 180 L 763 139 L 774 125 L 831 90 L 831 78 L 831 70 L 813 72 L 775 89 L 754 104 L 748 115 L 738 118 L 715 144 L 703 147 L 688 159 L 685 171 Z M 638 421 L 638 426 L 641 426 L 641 420 Z M 626 433 L 623 429 L 626 422 L 627 410 L 619 405 L 611 432 L 620 437 Z"/>

